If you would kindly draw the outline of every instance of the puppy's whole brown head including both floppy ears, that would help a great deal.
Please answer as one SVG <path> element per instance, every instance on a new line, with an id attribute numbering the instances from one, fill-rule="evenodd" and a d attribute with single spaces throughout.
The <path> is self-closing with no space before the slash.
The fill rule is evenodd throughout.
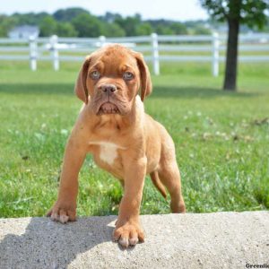
<path id="1" fill-rule="evenodd" d="M 142 99 L 151 91 L 143 57 L 122 46 L 110 45 L 86 59 L 75 91 L 86 103 L 88 94 L 91 96 L 94 114 L 124 116 L 132 110 L 139 88 L 143 88 Z"/>

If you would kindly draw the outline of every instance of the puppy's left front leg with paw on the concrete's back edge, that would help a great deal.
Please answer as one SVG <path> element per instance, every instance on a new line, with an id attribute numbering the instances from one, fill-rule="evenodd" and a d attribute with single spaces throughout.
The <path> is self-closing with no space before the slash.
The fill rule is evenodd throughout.
<path id="1" fill-rule="evenodd" d="M 86 153 L 71 137 L 65 148 L 64 165 L 61 173 L 58 198 L 47 213 L 53 221 L 65 223 L 75 221 L 78 174 Z"/>

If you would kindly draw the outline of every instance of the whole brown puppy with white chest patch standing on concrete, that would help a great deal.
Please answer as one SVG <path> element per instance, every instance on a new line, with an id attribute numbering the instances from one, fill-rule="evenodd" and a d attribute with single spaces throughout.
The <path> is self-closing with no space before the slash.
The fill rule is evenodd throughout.
<path id="1" fill-rule="evenodd" d="M 48 212 L 52 220 L 75 220 L 78 174 L 89 152 L 124 187 L 113 232 L 121 246 L 143 241 L 139 211 L 146 174 L 164 196 L 167 187 L 173 213 L 185 212 L 174 143 L 143 110 L 143 100 L 151 91 L 141 54 L 110 45 L 86 58 L 75 85 L 85 104 L 65 148 L 58 198 Z"/>

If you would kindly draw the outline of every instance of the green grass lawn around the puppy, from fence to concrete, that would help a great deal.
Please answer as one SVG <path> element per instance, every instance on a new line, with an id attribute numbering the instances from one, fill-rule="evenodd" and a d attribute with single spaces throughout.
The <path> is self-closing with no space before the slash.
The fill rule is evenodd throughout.
<path id="1" fill-rule="evenodd" d="M 81 102 L 80 64 L 53 72 L 41 63 L 0 63 L 0 217 L 41 216 L 56 200 L 65 142 Z M 187 211 L 269 208 L 269 64 L 240 65 L 239 91 L 221 91 L 208 64 L 161 65 L 146 111 L 177 148 Z M 267 119 L 266 119 L 267 118 Z M 79 215 L 116 214 L 122 190 L 88 156 L 80 173 Z M 169 213 L 169 201 L 143 191 L 142 213 Z"/>

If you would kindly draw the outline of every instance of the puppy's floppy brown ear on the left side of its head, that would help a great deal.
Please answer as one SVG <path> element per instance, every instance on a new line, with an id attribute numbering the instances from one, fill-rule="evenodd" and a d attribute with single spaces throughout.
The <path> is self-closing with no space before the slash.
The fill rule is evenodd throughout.
<path id="1" fill-rule="evenodd" d="M 82 65 L 80 73 L 78 74 L 76 84 L 74 86 L 74 92 L 76 96 L 80 100 L 82 100 L 85 104 L 88 103 L 88 97 L 89 97 L 86 80 L 87 80 L 87 74 L 88 74 L 90 62 L 91 62 L 91 56 L 87 56 L 87 58 L 85 59 Z"/>

